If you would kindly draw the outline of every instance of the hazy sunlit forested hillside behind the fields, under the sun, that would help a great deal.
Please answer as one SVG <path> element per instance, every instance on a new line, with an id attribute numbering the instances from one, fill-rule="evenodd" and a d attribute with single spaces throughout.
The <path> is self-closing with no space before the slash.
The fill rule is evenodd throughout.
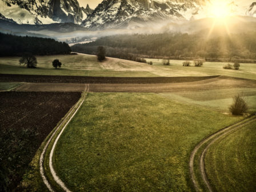
<path id="1" fill-rule="evenodd" d="M 211 35 L 163 33 L 115 35 L 71 47 L 73 51 L 94 54 L 97 46 L 106 46 L 113 54 L 137 54 L 170 58 L 256 59 L 256 33 Z"/>

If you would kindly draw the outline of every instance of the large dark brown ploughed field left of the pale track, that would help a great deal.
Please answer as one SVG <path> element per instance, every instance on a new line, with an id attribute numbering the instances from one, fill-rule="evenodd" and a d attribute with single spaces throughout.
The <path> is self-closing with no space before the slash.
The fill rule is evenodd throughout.
<path id="1" fill-rule="evenodd" d="M 35 152 L 81 93 L 0 93 L 0 191 L 17 191 Z"/>

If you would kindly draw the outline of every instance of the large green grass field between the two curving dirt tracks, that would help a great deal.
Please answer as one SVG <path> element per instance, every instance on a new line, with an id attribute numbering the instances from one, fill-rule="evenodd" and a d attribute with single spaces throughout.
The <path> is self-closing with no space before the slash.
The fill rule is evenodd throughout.
<path id="1" fill-rule="evenodd" d="M 73 191 L 193 191 L 191 150 L 239 119 L 158 94 L 90 93 L 54 166 Z"/>

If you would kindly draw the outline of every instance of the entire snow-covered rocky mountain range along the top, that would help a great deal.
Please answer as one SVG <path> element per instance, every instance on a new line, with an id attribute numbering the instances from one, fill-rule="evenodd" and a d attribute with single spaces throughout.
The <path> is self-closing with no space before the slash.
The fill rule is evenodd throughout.
<path id="1" fill-rule="evenodd" d="M 145 23 L 152 25 L 161 21 L 203 18 L 205 6 L 210 1 L 103 0 L 93 10 L 89 5 L 80 7 L 77 0 L 0 0 L 0 22 L 29 25 L 74 23 L 88 30 L 134 29 Z M 242 12 L 256 17 L 256 2 Z"/>

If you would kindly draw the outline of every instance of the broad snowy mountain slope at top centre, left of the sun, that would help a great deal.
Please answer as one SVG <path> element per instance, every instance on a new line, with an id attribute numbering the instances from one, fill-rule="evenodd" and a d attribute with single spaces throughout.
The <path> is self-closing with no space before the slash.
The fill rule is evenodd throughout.
<path id="1" fill-rule="evenodd" d="M 165 19 L 190 19 L 205 1 L 104 0 L 82 26 L 86 28 L 138 27 L 145 22 Z"/>

